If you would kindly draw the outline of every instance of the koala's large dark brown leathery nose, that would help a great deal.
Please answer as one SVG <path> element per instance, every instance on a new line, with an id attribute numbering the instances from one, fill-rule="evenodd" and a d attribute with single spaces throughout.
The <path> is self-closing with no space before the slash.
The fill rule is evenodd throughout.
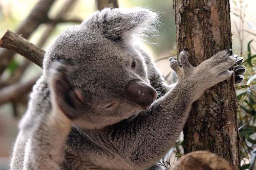
<path id="1" fill-rule="evenodd" d="M 133 80 L 127 86 L 126 98 L 146 110 L 156 100 L 157 92 L 146 83 L 140 80 Z"/>

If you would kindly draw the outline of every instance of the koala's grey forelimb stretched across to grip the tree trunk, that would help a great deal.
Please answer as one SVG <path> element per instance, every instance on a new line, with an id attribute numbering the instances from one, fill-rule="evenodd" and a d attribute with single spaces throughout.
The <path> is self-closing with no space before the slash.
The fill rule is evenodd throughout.
<path id="1" fill-rule="evenodd" d="M 122 157 L 134 165 L 134 169 L 143 169 L 163 157 L 182 131 L 192 103 L 207 88 L 228 79 L 233 73 L 228 68 L 234 64 L 234 59 L 227 51 L 217 53 L 197 67 L 190 65 L 187 52 L 180 56 L 184 75 L 173 90 L 127 124 L 118 129 L 114 126 L 104 128 L 100 133 L 103 136 L 93 136 L 96 141 L 108 139 L 105 143 L 108 149 L 122 151 Z"/>

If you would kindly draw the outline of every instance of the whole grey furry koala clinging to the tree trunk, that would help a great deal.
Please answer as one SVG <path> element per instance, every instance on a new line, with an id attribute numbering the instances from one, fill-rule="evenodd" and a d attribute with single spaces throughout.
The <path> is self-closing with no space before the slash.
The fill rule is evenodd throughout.
<path id="1" fill-rule="evenodd" d="M 178 82 L 167 85 L 137 43 L 157 18 L 106 8 L 56 39 L 19 124 L 11 169 L 161 169 L 193 102 L 229 79 L 241 58 L 224 50 L 194 67 L 183 50 L 180 61 L 170 58 Z"/>

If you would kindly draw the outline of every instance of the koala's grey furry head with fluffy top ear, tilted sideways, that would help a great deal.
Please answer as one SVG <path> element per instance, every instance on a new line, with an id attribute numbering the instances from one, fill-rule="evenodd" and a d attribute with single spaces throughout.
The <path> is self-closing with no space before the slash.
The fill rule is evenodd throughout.
<path id="1" fill-rule="evenodd" d="M 156 99 L 147 66 L 135 38 L 155 23 L 147 9 L 110 9 L 62 33 L 44 59 L 47 78 L 51 62 L 66 59 L 76 65 L 68 81 L 85 99 L 79 127 L 101 128 L 146 110 Z"/>

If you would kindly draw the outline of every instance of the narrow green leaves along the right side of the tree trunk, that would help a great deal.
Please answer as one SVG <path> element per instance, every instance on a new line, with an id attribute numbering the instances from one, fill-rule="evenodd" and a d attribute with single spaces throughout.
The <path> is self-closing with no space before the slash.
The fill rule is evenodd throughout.
<path id="1" fill-rule="evenodd" d="M 241 138 L 241 156 L 245 163 L 241 169 L 252 168 L 255 163 L 256 154 L 256 74 L 253 62 L 256 55 L 251 55 L 250 41 L 247 48 L 247 56 L 245 56 L 244 65 L 247 68 L 247 72 L 244 75 L 244 83 L 237 86 L 238 97 L 238 123 L 239 134 Z M 254 156 L 253 156 L 254 155 Z M 250 165 L 251 164 L 251 165 Z"/>

